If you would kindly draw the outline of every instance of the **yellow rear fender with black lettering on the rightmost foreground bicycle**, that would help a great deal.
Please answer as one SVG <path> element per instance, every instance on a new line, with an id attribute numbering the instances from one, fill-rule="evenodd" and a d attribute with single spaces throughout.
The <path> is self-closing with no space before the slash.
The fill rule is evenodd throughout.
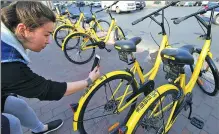
<path id="1" fill-rule="evenodd" d="M 164 92 L 168 91 L 169 89 L 175 89 L 178 90 L 178 88 L 172 84 L 166 84 L 163 86 L 160 86 L 159 88 L 155 89 L 153 92 L 151 92 L 149 95 L 147 95 L 141 103 L 138 104 L 135 111 L 132 113 L 131 117 L 129 118 L 128 122 L 126 123 L 126 126 L 128 128 L 126 134 L 132 134 L 137 122 L 140 120 L 140 117 L 142 114 L 144 114 L 145 110 L 148 108 L 148 106 L 157 98 L 159 97 L 159 94 L 163 94 Z M 159 91 L 159 94 L 158 94 Z"/>

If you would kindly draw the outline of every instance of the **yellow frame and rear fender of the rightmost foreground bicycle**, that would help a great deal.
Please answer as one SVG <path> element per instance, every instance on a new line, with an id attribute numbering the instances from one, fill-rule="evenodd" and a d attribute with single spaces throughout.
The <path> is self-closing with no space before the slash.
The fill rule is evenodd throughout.
<path id="1" fill-rule="evenodd" d="M 172 120 L 172 117 L 176 114 L 175 112 L 177 111 L 177 106 L 179 106 L 179 105 L 181 105 L 181 102 L 182 102 L 182 100 L 184 99 L 184 96 L 186 95 L 186 94 L 188 94 L 188 93 L 191 93 L 192 92 L 192 89 L 194 88 L 194 86 L 195 86 L 195 84 L 196 84 L 196 81 L 197 81 L 197 79 L 198 79 L 198 77 L 199 77 L 199 73 L 200 73 L 200 71 L 201 71 L 201 67 L 202 67 L 202 65 L 203 65 L 203 63 L 204 63 L 204 61 L 205 61 L 205 57 L 207 56 L 207 55 L 212 55 L 210 52 L 209 52 L 209 48 L 210 48 L 210 42 L 211 42 L 211 40 L 206 40 L 205 41 L 205 44 L 204 44 L 204 46 L 203 46 L 203 48 L 202 48 L 202 52 L 201 52 L 201 54 L 200 54 L 200 56 L 199 56 L 199 59 L 198 59 L 198 61 L 197 61 L 197 64 L 196 64 L 196 66 L 195 66 L 195 71 L 193 72 L 193 74 L 192 74 L 192 77 L 191 77 L 191 79 L 190 79 L 190 81 L 188 82 L 188 84 L 186 85 L 186 74 L 181 74 L 175 81 L 174 81 L 174 83 L 177 83 L 177 82 L 179 82 L 180 83 L 180 87 L 182 88 L 182 90 L 183 90 L 183 96 L 181 96 L 181 99 L 180 100 L 178 100 L 178 101 L 175 101 L 175 102 L 173 102 L 173 103 L 170 103 L 169 105 L 167 105 L 166 107 L 164 107 L 163 109 L 162 109 L 162 111 L 165 111 L 165 109 L 168 109 L 170 106 L 172 106 L 173 105 L 173 108 L 172 108 L 172 111 L 171 111 L 171 113 L 170 113 L 170 115 L 169 115 L 169 118 L 168 118 L 168 121 L 167 121 L 167 124 L 166 124 L 166 126 L 165 126 L 165 131 L 168 131 L 171 127 L 172 127 L 172 125 L 174 124 L 174 122 L 176 121 L 176 119 L 177 119 L 177 116 L 176 116 L 176 118 L 174 118 L 174 120 Z M 176 87 L 175 85 L 172 85 L 172 84 L 166 84 L 166 85 L 163 85 L 163 86 L 161 86 L 161 87 L 159 87 L 157 90 L 155 90 L 155 91 L 153 91 L 151 94 L 149 94 L 148 96 L 146 96 L 145 98 L 144 98 L 144 100 L 139 104 L 139 106 L 141 106 L 142 107 L 142 109 L 140 109 L 139 108 L 139 106 L 136 108 L 136 110 L 133 112 L 133 114 L 132 114 L 132 116 L 130 117 L 130 119 L 129 119 L 129 121 L 127 122 L 127 124 L 126 124 L 126 126 L 128 127 L 128 130 L 127 130 L 127 134 L 129 134 L 129 133 L 131 133 L 132 132 L 132 130 L 134 130 L 135 128 L 135 125 L 133 125 L 133 121 L 135 121 L 135 123 L 134 124 L 137 124 L 137 121 L 140 119 L 140 115 L 142 115 L 143 113 L 142 112 L 144 112 L 146 109 L 144 109 L 144 108 L 146 108 L 147 107 L 147 105 L 150 105 L 153 101 L 151 101 L 152 99 L 152 97 L 157 97 L 157 96 L 159 96 L 159 94 L 161 94 L 161 92 L 160 91 L 168 91 L 169 89 L 177 89 L 178 91 L 179 91 L 179 89 L 178 89 L 178 87 Z M 159 94 L 157 93 L 159 91 Z M 163 98 L 161 99 L 161 101 L 163 100 Z M 147 104 L 145 103 L 145 102 L 147 102 Z M 158 103 L 158 105 L 159 105 L 159 103 Z M 158 107 L 158 105 L 156 106 L 156 107 Z M 139 110 L 140 109 L 140 110 Z M 158 112 L 157 114 L 161 114 L 161 111 L 160 112 Z"/>

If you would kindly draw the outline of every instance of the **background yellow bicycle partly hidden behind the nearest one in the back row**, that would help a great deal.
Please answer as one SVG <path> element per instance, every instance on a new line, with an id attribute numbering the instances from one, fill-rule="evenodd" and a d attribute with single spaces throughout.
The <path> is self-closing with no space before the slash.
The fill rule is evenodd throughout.
<path id="1" fill-rule="evenodd" d="M 90 12 L 92 14 L 92 17 L 85 17 L 84 13 L 80 11 L 80 15 L 72 15 L 71 14 L 71 19 L 76 19 L 77 21 L 72 23 L 70 19 L 66 20 L 66 24 L 58 26 L 54 30 L 53 38 L 56 42 L 56 44 L 62 48 L 62 43 L 64 42 L 65 37 L 67 37 L 70 33 L 74 32 L 82 32 L 86 33 L 86 26 L 89 25 L 89 27 L 94 27 L 95 31 L 101 29 L 101 30 L 106 30 L 109 27 L 109 22 L 105 20 L 97 20 L 96 15 L 92 11 L 92 4 L 90 6 Z M 65 14 L 69 14 L 70 12 L 65 12 Z M 105 27 L 102 27 L 105 26 Z M 97 29 L 99 28 L 99 29 Z M 78 40 L 76 41 L 76 44 L 78 43 Z M 72 47 L 68 47 L 67 50 L 73 49 Z"/>

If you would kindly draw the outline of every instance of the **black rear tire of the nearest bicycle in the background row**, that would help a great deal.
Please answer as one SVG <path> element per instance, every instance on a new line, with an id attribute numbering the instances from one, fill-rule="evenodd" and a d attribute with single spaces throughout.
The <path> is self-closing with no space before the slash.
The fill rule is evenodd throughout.
<path id="1" fill-rule="evenodd" d="M 91 48 L 92 50 L 91 50 L 91 54 L 88 54 L 88 58 L 86 58 L 84 61 L 76 61 L 75 59 L 72 59 L 71 58 L 71 56 L 68 54 L 68 51 L 73 51 L 74 49 L 78 49 L 79 50 L 79 47 L 80 47 L 80 45 L 81 45 L 81 43 L 80 43 L 80 38 L 78 38 L 77 39 L 77 43 L 74 45 L 74 46 L 71 46 L 71 47 L 69 47 L 68 46 L 68 42 L 70 41 L 70 39 L 72 39 L 73 37 L 80 37 L 80 38 L 82 38 L 82 39 L 84 39 L 85 37 L 88 37 L 88 39 L 89 39 L 89 41 L 91 42 L 91 44 L 93 44 L 94 43 L 94 40 L 89 36 L 89 35 L 87 35 L 87 34 L 84 34 L 84 33 L 73 33 L 73 34 L 71 34 L 70 36 L 68 36 L 68 37 L 66 37 L 66 39 L 65 39 L 65 41 L 64 41 L 64 54 L 65 54 L 65 57 L 70 61 L 70 62 L 72 62 L 72 63 L 74 63 L 74 64 L 79 64 L 79 65 L 82 65 L 82 64 L 85 64 L 85 63 L 87 63 L 87 62 L 89 62 L 92 58 L 93 58 L 93 56 L 94 56 L 94 54 L 95 54 L 95 48 Z M 78 48 L 77 48 L 78 47 Z M 71 48 L 70 50 L 69 50 L 69 48 Z M 80 51 L 80 50 L 79 50 Z M 84 50 L 84 51 L 87 51 L 87 50 Z M 84 52 L 83 51 L 83 52 Z M 81 53 L 81 51 L 80 51 L 80 53 Z M 88 53 L 88 52 L 87 52 Z M 77 54 L 77 53 L 76 53 Z"/>

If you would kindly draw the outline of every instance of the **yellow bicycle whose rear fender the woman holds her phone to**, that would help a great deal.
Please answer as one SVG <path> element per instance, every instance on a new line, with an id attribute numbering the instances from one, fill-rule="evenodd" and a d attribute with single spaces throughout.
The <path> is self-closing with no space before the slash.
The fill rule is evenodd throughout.
<path id="1" fill-rule="evenodd" d="M 92 131 L 92 129 L 95 130 L 98 125 L 104 124 L 101 129 L 103 132 L 100 133 L 111 132 L 115 127 L 122 125 L 123 122 L 129 119 L 135 110 L 136 101 L 140 95 L 146 96 L 154 90 L 154 79 L 162 62 L 160 52 L 170 47 L 164 27 L 164 9 L 176 3 L 177 2 L 172 2 L 132 23 L 135 25 L 150 17 L 162 30 L 161 34 L 163 39 L 155 64 L 146 74 L 143 73 L 143 68 L 133 55 L 133 52 L 136 52 L 136 45 L 141 41 L 141 38 L 134 37 L 115 43 L 115 48 L 119 52 L 120 59 L 129 65 L 133 64 L 133 66 L 131 69 L 126 69 L 125 71 L 112 71 L 103 75 L 86 90 L 77 104 L 71 105 L 74 111 L 73 128 L 75 131 L 79 130 L 80 133 L 83 134 L 93 134 L 95 131 Z M 154 18 L 154 15 L 157 15 L 159 11 L 162 11 L 161 23 Z M 130 58 L 127 56 L 130 56 Z M 138 75 L 140 79 L 139 84 L 135 75 Z M 92 126 L 89 124 L 92 124 Z"/>

